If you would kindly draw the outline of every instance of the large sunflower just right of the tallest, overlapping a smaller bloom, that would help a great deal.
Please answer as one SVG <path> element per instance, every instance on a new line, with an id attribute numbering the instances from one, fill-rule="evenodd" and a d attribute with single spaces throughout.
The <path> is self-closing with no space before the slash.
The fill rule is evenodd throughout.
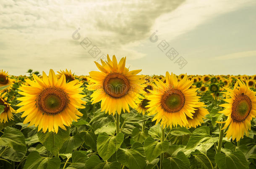
<path id="1" fill-rule="evenodd" d="M 156 114 L 152 121 L 156 120 L 156 124 L 161 121 L 161 125 L 180 126 L 188 124 L 186 116 L 191 117 L 199 101 L 196 96 L 197 88 L 189 89 L 193 81 L 188 81 L 187 75 L 178 82 L 178 78 L 174 74 L 166 72 L 166 83 L 155 81 L 157 87 L 152 91 L 152 95 L 148 96 L 150 115 Z"/>

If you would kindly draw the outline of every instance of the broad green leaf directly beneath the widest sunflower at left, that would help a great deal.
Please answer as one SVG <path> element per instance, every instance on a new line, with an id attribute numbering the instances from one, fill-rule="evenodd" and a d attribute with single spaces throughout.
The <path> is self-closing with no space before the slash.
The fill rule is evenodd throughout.
<path id="1" fill-rule="evenodd" d="M 59 153 L 63 143 L 69 138 L 69 131 L 59 129 L 58 133 L 54 132 L 38 132 L 39 141 L 55 156 Z"/>

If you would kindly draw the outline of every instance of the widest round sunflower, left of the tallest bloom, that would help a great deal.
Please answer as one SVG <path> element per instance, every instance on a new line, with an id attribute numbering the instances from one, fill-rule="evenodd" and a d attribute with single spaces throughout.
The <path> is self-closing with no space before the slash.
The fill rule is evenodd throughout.
<path id="1" fill-rule="evenodd" d="M 17 113 L 23 112 L 21 117 L 26 117 L 24 124 L 38 126 L 38 131 L 43 129 L 58 132 L 58 127 L 66 129 L 72 121 L 77 121 L 78 116 L 83 116 L 77 108 L 84 108 L 81 104 L 85 95 L 81 95 L 82 85 L 77 80 L 66 83 L 65 75 L 57 79 L 54 71 L 50 69 L 49 77 L 43 72 L 43 79 L 33 74 L 34 81 L 26 80 L 30 86 L 21 85 L 19 92 L 24 97 L 17 98 L 22 101 L 17 106 L 22 106 Z M 65 126 L 64 126 L 65 125 Z"/>

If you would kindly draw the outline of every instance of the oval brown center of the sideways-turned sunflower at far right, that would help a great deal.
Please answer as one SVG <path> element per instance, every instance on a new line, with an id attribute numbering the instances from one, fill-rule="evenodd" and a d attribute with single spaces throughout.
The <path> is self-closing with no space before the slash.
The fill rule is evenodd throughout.
<path id="1" fill-rule="evenodd" d="M 251 99 L 244 93 L 235 97 L 232 104 L 231 118 L 237 123 L 241 123 L 246 120 L 251 112 L 252 102 Z"/>

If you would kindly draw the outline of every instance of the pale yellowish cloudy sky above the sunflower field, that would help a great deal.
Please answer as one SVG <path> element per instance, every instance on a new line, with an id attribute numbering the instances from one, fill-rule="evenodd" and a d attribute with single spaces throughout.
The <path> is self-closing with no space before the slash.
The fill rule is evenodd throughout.
<path id="1" fill-rule="evenodd" d="M 104 2 L 104 3 L 102 3 Z M 255 0 L 1 0 L 0 69 L 256 74 Z"/>

